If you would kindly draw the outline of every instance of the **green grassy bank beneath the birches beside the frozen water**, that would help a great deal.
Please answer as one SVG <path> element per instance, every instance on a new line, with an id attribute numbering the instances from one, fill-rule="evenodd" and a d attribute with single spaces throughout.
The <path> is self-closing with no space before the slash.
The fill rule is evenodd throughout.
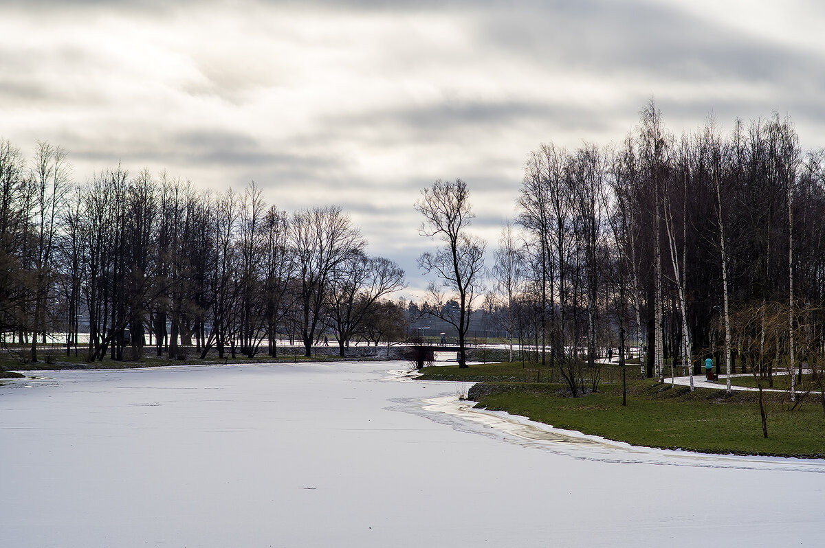
<path id="1" fill-rule="evenodd" d="M 612 367 L 612 366 L 610 366 Z M 768 438 L 762 437 L 757 394 L 671 387 L 653 380 L 628 381 L 628 405 L 620 383 L 572 398 L 558 382 L 521 382 L 521 364 L 425 368 L 431 380 L 481 381 L 470 396 L 479 407 L 507 411 L 562 429 L 596 434 L 647 447 L 698 452 L 825 457 L 825 417 L 818 395 L 790 409 L 785 394 L 766 395 Z M 628 371 L 630 373 L 630 370 Z M 549 373 L 545 378 L 549 379 Z M 558 377 L 558 375 L 556 376 Z"/>

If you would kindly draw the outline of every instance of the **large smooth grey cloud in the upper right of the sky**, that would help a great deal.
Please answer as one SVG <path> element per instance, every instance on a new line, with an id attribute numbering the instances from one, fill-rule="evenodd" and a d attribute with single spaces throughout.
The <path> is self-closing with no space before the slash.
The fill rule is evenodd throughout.
<path id="1" fill-rule="evenodd" d="M 547 2 L 479 18 L 479 42 L 531 55 L 552 70 L 576 70 L 676 80 L 709 77 L 796 80 L 825 78 L 821 55 L 772 44 L 741 31 L 648 2 Z"/>

